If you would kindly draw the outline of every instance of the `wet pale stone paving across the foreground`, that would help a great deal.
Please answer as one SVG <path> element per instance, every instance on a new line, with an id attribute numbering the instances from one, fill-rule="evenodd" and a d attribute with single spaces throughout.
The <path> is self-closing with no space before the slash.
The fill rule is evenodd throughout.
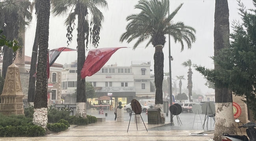
<path id="1" fill-rule="evenodd" d="M 189 133 L 199 133 L 203 131 L 172 130 L 154 131 L 152 128 L 160 125 L 131 122 L 127 133 L 129 122 L 117 123 L 115 121 L 98 122 L 85 126 L 71 125 L 69 129 L 60 133 L 48 134 L 44 137 L 8 137 L 0 138 L 0 141 L 207 141 L 213 137 L 191 136 Z"/>

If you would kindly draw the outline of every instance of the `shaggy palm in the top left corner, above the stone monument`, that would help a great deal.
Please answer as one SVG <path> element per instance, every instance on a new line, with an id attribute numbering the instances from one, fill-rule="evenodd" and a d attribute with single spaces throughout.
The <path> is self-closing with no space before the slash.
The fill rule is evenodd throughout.
<path id="1" fill-rule="evenodd" d="M 29 0 L 2 0 L 0 2 L 0 28 L 4 30 L 8 40 L 17 40 L 23 45 L 22 35 L 26 25 L 32 20 L 32 14 L 28 10 L 31 6 Z M 27 22 L 28 21 L 28 22 Z M 2 77 L 6 77 L 7 67 L 13 63 L 16 52 L 7 46 L 3 50 Z"/>

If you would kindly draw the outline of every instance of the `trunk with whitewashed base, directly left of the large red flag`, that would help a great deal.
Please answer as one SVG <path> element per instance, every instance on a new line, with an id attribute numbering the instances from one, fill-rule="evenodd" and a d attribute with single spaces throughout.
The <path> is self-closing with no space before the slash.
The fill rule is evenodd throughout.
<path id="1" fill-rule="evenodd" d="M 86 116 L 86 97 L 85 97 L 85 79 L 81 78 L 81 71 L 83 63 L 85 61 L 85 15 L 87 13 L 87 7 L 82 4 L 78 4 L 78 54 L 77 54 L 77 95 L 76 95 L 76 116 Z"/>

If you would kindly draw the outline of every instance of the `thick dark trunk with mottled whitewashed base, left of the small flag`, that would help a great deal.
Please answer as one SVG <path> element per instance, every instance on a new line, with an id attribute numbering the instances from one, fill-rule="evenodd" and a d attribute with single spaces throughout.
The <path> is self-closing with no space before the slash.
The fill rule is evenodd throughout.
<path id="1" fill-rule="evenodd" d="M 40 0 L 39 11 L 37 16 L 37 22 L 39 23 L 39 51 L 33 123 L 43 128 L 47 128 L 47 53 L 49 41 L 50 0 Z"/>

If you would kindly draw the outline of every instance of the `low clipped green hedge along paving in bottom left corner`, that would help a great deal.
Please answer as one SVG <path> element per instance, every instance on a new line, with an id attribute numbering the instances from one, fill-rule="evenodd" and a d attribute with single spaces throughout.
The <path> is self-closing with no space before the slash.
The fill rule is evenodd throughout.
<path id="1" fill-rule="evenodd" d="M 0 126 L 0 137 L 38 137 L 44 135 L 45 129 L 37 125 Z"/>

